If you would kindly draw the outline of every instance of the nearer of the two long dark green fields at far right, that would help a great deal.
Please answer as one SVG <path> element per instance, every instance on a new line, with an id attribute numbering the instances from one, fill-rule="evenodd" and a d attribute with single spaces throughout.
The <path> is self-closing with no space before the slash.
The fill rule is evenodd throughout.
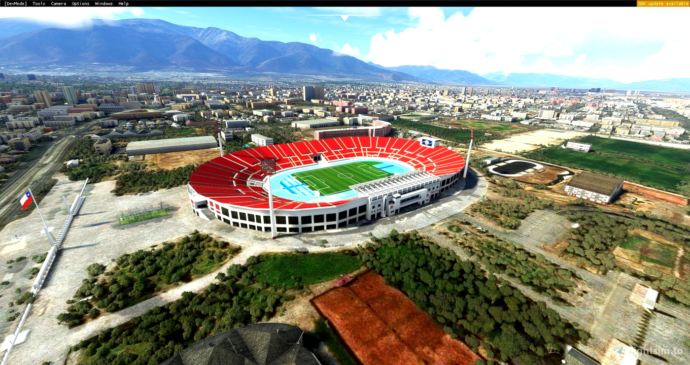
<path id="1" fill-rule="evenodd" d="M 642 184 L 660 186 L 667 190 L 676 190 L 676 185 L 680 184 L 682 180 L 690 181 L 689 172 L 606 155 L 557 148 L 546 151 L 544 156 L 555 164 L 583 168 L 593 172 L 609 172 L 621 177 L 635 179 Z"/>

